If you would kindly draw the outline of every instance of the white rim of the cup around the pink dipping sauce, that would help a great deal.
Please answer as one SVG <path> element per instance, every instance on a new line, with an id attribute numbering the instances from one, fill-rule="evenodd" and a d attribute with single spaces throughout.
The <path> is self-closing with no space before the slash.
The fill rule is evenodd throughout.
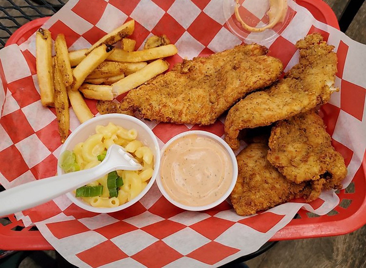
<path id="1" fill-rule="evenodd" d="M 168 148 L 168 146 L 170 146 L 172 144 L 172 142 L 174 142 L 176 139 L 182 138 L 184 136 L 188 136 L 188 135 L 199 135 L 199 136 L 205 136 L 208 138 L 211 138 L 215 141 L 217 141 L 219 144 L 221 144 L 222 146 L 224 146 L 224 148 L 227 150 L 227 152 L 230 155 L 231 161 L 232 161 L 232 170 L 233 170 L 233 175 L 232 175 L 232 181 L 231 181 L 231 185 L 229 187 L 229 189 L 227 190 L 227 192 L 218 200 L 216 200 L 215 202 L 209 204 L 209 205 L 205 205 L 205 206 L 187 206 L 187 205 L 183 205 L 180 204 L 179 202 L 173 200 L 173 198 L 171 196 L 169 196 L 169 194 L 167 193 L 167 191 L 165 190 L 163 183 L 161 182 L 161 177 L 160 177 L 160 169 L 159 169 L 159 173 L 156 177 L 156 183 L 159 187 L 159 190 L 161 191 L 161 193 L 163 194 L 163 196 L 165 198 L 167 198 L 167 200 L 169 202 L 171 202 L 173 205 L 178 206 L 179 208 L 182 209 L 186 209 L 186 210 L 190 210 L 190 211 L 202 211 L 202 210 L 206 210 L 206 209 L 210 209 L 213 208 L 219 204 L 221 204 L 221 202 L 223 202 L 226 198 L 228 198 L 228 196 L 230 195 L 230 193 L 232 192 L 232 190 L 234 189 L 235 183 L 236 183 L 236 179 L 238 179 L 238 162 L 236 161 L 236 157 L 234 152 L 232 151 L 232 149 L 230 148 L 230 146 L 223 140 L 221 139 L 219 136 L 212 134 L 210 132 L 207 131 L 201 131 L 201 130 L 194 130 L 194 131 L 187 131 L 187 132 L 183 132 L 179 135 L 176 135 L 175 137 L 171 138 L 163 147 L 163 149 L 161 149 L 161 156 L 164 155 L 165 150 Z"/>

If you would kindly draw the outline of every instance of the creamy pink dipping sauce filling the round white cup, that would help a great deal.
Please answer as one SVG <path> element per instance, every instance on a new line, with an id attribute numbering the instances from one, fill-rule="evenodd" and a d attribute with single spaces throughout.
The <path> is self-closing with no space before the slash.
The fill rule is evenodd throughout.
<path id="1" fill-rule="evenodd" d="M 161 157 L 160 176 L 165 191 L 176 202 L 205 206 L 228 191 L 233 164 L 219 142 L 196 134 L 176 139 Z"/>

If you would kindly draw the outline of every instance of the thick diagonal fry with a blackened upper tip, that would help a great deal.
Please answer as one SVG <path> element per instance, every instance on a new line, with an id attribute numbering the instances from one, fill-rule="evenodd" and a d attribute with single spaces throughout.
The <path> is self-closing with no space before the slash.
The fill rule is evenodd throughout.
<path id="1" fill-rule="evenodd" d="M 97 68 L 99 64 L 104 62 L 104 60 L 111 55 L 113 50 L 113 46 L 103 44 L 89 53 L 89 55 L 87 55 L 72 71 L 74 82 L 71 84 L 71 90 L 78 90 L 85 78 Z"/>

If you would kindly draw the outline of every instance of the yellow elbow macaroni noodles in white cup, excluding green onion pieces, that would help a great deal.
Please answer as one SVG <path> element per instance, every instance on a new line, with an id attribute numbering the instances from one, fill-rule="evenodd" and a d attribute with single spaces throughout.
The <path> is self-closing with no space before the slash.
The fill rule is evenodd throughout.
<path id="1" fill-rule="evenodd" d="M 117 174 L 122 178 L 123 185 L 118 190 L 118 197 L 109 197 L 107 186 L 108 175 L 88 183 L 87 186 L 103 186 L 101 196 L 81 197 L 84 202 L 91 206 L 102 208 L 113 208 L 131 201 L 141 193 L 147 186 L 149 179 L 154 172 L 153 152 L 143 146 L 141 141 L 136 140 L 137 130 L 126 130 L 123 127 L 109 123 L 107 126 L 97 126 L 96 134 L 91 135 L 85 142 L 77 144 L 73 150 L 76 162 L 81 170 L 95 167 L 101 162 L 98 155 L 108 149 L 112 144 L 118 144 L 130 152 L 143 166 L 139 171 L 117 170 Z"/>

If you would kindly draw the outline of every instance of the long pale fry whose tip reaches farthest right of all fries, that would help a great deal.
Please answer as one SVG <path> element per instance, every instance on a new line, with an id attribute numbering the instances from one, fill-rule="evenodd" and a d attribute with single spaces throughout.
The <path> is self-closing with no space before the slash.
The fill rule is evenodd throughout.
<path id="1" fill-rule="evenodd" d="M 114 60 L 116 62 L 146 62 L 147 60 L 173 56 L 177 52 L 176 46 L 172 44 L 133 52 L 116 49 L 112 55 L 108 57 L 108 60 Z"/>

